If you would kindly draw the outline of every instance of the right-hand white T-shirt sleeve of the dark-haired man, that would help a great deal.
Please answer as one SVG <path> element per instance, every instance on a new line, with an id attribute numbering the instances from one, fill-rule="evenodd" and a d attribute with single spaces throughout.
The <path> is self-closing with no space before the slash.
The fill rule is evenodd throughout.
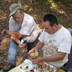
<path id="1" fill-rule="evenodd" d="M 62 40 L 58 51 L 64 53 L 70 53 L 70 50 L 71 50 L 71 35 L 68 33 L 66 36 L 64 36 L 64 39 Z"/>

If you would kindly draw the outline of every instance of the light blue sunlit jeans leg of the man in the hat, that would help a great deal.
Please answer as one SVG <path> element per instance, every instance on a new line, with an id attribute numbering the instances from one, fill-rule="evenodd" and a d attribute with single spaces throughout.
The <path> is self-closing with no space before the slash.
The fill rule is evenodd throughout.
<path id="1" fill-rule="evenodd" d="M 15 42 L 11 39 L 11 40 L 10 40 L 10 43 L 9 43 L 8 63 L 15 63 L 15 62 L 16 62 L 17 46 L 18 46 L 18 44 L 15 43 Z"/>

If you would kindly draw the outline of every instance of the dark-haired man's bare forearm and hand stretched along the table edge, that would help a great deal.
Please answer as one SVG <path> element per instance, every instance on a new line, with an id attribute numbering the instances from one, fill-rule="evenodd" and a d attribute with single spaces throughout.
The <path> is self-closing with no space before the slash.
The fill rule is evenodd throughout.
<path id="1" fill-rule="evenodd" d="M 66 55 L 66 53 L 59 52 L 58 54 L 50 56 L 50 57 L 38 57 L 38 58 L 32 60 L 32 63 L 38 64 L 40 62 L 56 62 L 56 61 L 63 60 L 65 55 Z"/>

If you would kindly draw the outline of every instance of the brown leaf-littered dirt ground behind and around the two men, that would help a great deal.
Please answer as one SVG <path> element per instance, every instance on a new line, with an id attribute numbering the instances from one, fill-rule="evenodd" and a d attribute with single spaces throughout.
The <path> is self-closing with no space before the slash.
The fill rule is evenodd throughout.
<path id="1" fill-rule="evenodd" d="M 41 0 L 42 1 L 42 0 Z M 2 30 L 8 30 L 8 20 L 9 20 L 9 6 L 14 3 L 13 0 L 0 0 L 0 33 Z M 17 3 L 15 1 L 15 3 Z M 22 7 L 24 12 L 30 14 L 35 19 L 40 33 L 42 32 L 42 18 L 45 14 L 51 13 L 57 16 L 60 24 L 64 25 L 66 28 L 72 28 L 72 5 L 70 9 L 66 9 L 65 6 L 56 2 L 57 6 L 51 8 L 51 5 L 44 5 L 41 2 L 34 2 L 31 4 L 30 0 L 22 1 Z M 57 9 L 57 7 L 60 9 Z M 8 46 L 9 46 L 10 36 L 5 35 L 4 37 L 0 34 L 0 69 L 2 69 L 7 62 Z M 27 48 L 18 48 L 16 55 L 16 65 L 19 65 L 27 58 Z M 42 56 L 42 53 L 40 52 Z"/>

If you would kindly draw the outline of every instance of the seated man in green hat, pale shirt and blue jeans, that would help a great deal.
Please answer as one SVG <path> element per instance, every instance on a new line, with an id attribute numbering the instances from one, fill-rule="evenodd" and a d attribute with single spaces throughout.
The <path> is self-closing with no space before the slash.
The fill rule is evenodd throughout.
<path id="1" fill-rule="evenodd" d="M 26 44 L 21 44 L 20 40 L 27 40 L 27 48 L 29 51 L 36 45 L 39 35 L 33 17 L 24 13 L 20 5 L 12 4 L 9 10 L 9 30 L 3 30 L 1 33 L 2 35 L 8 34 L 11 36 L 8 51 L 8 64 L 3 69 L 5 72 L 16 66 L 17 46 L 23 47 Z"/>

